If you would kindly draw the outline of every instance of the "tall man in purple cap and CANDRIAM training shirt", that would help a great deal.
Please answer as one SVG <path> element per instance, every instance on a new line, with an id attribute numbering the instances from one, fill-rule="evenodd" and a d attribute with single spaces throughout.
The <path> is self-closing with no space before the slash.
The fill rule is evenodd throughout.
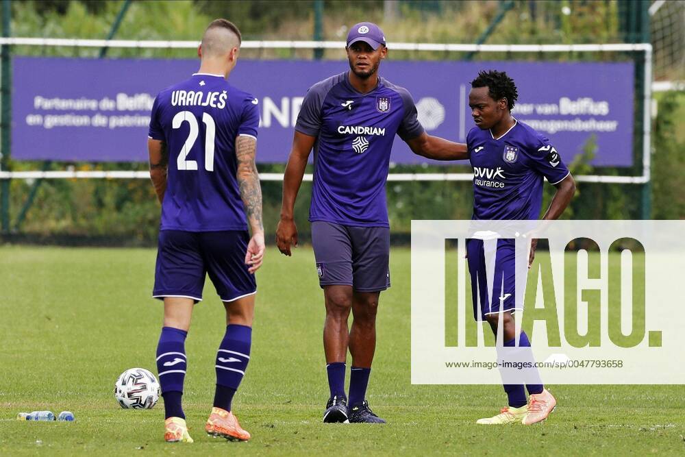
<path id="1" fill-rule="evenodd" d="M 466 158 L 466 145 L 427 135 L 416 119 L 410 93 L 379 77 L 388 49 L 377 25 L 353 25 L 345 49 L 350 70 L 314 84 L 303 101 L 286 166 L 276 238 L 279 250 L 290 256 L 290 248 L 297 246 L 292 208 L 314 148 L 309 220 L 325 298 L 323 347 L 330 390 L 323 421 L 384 423 L 371 412 L 365 395 L 379 293 L 390 286 L 385 193 L 390 149 L 395 134 L 414 153 L 437 160 Z M 353 321 L 348 330 L 350 311 Z"/>

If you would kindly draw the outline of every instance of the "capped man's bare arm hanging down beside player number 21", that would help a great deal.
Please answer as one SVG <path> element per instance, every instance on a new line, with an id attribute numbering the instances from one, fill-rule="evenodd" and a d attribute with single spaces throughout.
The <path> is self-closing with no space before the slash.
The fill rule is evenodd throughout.
<path id="1" fill-rule="evenodd" d="M 302 184 L 309 154 L 316 142 L 315 136 L 295 131 L 292 138 L 292 150 L 288 157 L 286 173 L 283 177 L 283 201 L 281 204 L 281 219 L 276 228 L 276 244 L 281 254 L 290 256 L 290 247 L 297 247 L 297 226 L 293 219 L 295 199 Z"/>

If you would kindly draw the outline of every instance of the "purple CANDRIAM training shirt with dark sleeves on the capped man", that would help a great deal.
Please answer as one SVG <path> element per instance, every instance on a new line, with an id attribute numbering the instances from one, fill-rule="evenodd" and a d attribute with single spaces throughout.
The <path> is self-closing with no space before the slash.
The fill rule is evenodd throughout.
<path id="1" fill-rule="evenodd" d="M 310 88 L 295 129 L 317 137 L 309 220 L 388 227 L 385 182 L 395 134 L 410 140 L 423 133 L 410 93 L 381 77 L 362 94 L 340 73 Z"/>

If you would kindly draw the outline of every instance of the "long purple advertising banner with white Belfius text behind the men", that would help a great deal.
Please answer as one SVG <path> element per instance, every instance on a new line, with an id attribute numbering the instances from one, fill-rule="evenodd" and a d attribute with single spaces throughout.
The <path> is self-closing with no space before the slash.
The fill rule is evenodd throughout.
<path id="1" fill-rule="evenodd" d="M 145 162 L 155 96 L 197 71 L 199 62 L 17 57 L 12 65 L 12 158 Z M 307 89 L 347 68 L 329 60 L 238 62 L 230 82 L 259 99 L 258 162 L 286 162 Z M 412 93 L 429 134 L 463 143 L 474 126 L 469 82 L 483 69 L 514 78 L 514 116 L 549 136 L 566 163 L 595 134 L 593 164 L 632 165 L 632 63 L 387 61 L 380 73 Z M 391 160 L 429 162 L 399 138 Z"/>

